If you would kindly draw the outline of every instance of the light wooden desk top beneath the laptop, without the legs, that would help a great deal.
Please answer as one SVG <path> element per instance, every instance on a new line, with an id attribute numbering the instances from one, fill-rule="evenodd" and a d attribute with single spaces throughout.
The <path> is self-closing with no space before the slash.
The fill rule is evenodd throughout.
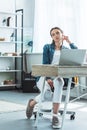
<path id="1" fill-rule="evenodd" d="M 34 76 L 87 76 L 87 65 L 84 66 L 56 66 L 56 65 L 32 65 Z"/>

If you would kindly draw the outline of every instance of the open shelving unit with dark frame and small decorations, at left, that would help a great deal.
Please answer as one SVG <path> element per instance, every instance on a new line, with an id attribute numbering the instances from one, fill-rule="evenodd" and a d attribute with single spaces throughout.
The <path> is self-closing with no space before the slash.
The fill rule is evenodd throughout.
<path id="1" fill-rule="evenodd" d="M 23 10 L 0 12 L 0 88 L 22 86 L 22 61 Z"/>

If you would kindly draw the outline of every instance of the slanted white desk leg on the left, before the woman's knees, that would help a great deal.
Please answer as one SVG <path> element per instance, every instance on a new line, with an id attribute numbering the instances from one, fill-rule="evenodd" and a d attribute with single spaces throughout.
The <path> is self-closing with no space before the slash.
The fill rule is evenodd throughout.
<path id="1" fill-rule="evenodd" d="M 38 119 L 39 119 L 39 113 L 40 113 L 40 109 L 41 109 L 41 102 L 42 102 L 42 98 L 43 98 L 43 90 L 44 90 L 44 86 L 45 86 L 45 79 L 46 77 L 43 77 L 43 85 L 42 85 L 42 89 L 41 89 L 41 92 L 40 92 L 40 99 L 39 99 L 39 102 L 38 102 L 38 109 L 37 109 L 37 116 L 36 116 L 36 120 L 35 120 L 35 127 L 37 127 L 38 125 Z"/>

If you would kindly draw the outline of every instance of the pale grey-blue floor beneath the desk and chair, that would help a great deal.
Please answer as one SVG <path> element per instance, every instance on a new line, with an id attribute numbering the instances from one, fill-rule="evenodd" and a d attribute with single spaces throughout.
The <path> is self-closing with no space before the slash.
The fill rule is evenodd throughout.
<path id="1" fill-rule="evenodd" d="M 30 98 L 34 98 L 37 93 L 23 93 L 22 91 L 0 91 L 0 100 L 14 102 L 17 104 L 27 105 Z M 74 104 L 74 103 L 73 103 Z M 80 100 L 77 102 L 78 107 L 75 109 L 76 116 L 74 120 L 70 120 L 69 115 L 66 115 L 63 130 L 86 130 L 87 129 L 87 101 Z M 7 106 L 8 107 L 8 106 Z M 52 130 L 51 120 L 40 117 L 38 127 L 35 128 L 35 120 L 26 118 L 25 110 L 1 113 L 0 114 L 0 130 Z"/>

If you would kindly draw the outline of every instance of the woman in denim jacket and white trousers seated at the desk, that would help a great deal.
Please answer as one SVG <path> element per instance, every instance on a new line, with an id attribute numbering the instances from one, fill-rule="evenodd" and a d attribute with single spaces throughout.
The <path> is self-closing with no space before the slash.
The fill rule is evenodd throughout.
<path id="1" fill-rule="evenodd" d="M 71 49 L 77 49 L 77 47 L 69 40 L 68 36 L 63 34 L 63 31 L 59 27 L 54 27 L 50 30 L 50 35 L 52 38 L 51 44 L 46 44 L 43 47 L 43 64 L 58 64 L 60 58 L 60 51 L 61 49 L 67 49 L 67 47 L 63 46 L 63 41 L 65 40 Z M 41 80 L 41 79 L 40 79 Z M 39 86 L 40 80 L 37 83 Z M 58 111 L 61 103 L 62 98 L 62 89 L 64 86 L 64 80 L 61 77 L 47 77 L 45 82 L 45 90 L 44 90 L 44 97 L 46 97 L 46 92 L 48 89 L 53 90 L 53 115 L 52 115 L 52 127 L 53 128 L 60 128 L 61 124 L 58 119 Z M 51 91 L 50 91 L 51 92 Z M 40 95 L 38 95 L 35 99 L 31 99 L 28 102 L 27 109 L 26 109 L 26 116 L 30 118 L 33 113 L 33 108 L 38 100 Z"/>

